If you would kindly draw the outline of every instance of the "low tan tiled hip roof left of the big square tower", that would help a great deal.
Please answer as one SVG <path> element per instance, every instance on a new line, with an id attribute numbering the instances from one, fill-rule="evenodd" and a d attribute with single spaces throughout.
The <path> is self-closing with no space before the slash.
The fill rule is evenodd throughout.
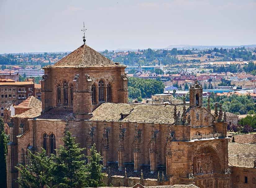
<path id="1" fill-rule="evenodd" d="M 42 112 L 42 102 L 35 98 L 34 96 L 31 96 L 21 102 L 19 105 L 15 106 L 14 108 L 28 108 L 27 111 L 14 115 L 12 117 L 14 118 L 34 118 L 39 115 L 41 115 Z"/>

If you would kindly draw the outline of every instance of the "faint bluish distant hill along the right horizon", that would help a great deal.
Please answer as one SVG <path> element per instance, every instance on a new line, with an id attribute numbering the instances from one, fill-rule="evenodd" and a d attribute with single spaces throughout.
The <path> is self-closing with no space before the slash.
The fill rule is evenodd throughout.
<path id="1" fill-rule="evenodd" d="M 238 47 L 245 47 L 245 48 L 256 48 L 256 44 L 250 44 L 250 45 L 237 45 L 237 46 L 200 46 L 200 45 L 169 45 L 167 48 L 164 49 L 211 49 L 211 48 L 238 48 Z"/>

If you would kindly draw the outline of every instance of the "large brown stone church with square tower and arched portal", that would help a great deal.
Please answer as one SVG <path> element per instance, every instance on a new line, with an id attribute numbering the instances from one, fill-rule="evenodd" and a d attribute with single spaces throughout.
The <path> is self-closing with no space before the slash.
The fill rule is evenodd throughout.
<path id="1" fill-rule="evenodd" d="M 114 186 L 230 187 L 226 114 L 221 105 L 214 114 L 202 106 L 198 83 L 189 105 L 129 104 L 125 66 L 86 44 L 43 69 L 42 103 L 30 97 L 5 119 L 8 188 L 18 187 L 15 166 L 28 163 L 27 149 L 55 153 L 67 130 L 88 156 L 96 144 Z"/>

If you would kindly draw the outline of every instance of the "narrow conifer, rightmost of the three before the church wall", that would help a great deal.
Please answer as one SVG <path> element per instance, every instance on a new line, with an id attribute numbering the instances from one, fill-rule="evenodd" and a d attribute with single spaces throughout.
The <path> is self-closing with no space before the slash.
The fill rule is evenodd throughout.
<path id="1" fill-rule="evenodd" d="M 91 156 L 87 156 L 90 159 L 90 162 L 86 165 L 87 172 L 87 182 L 88 187 L 100 187 L 104 186 L 104 183 L 101 182 L 104 174 L 101 172 L 101 154 L 97 152 L 95 144 L 91 148 Z"/>

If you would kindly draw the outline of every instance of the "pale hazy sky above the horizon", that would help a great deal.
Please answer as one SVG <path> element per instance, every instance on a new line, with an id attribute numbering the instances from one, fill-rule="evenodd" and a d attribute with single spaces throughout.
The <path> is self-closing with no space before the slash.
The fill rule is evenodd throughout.
<path id="1" fill-rule="evenodd" d="M 256 44 L 256 0 L 0 0 L 0 53 Z"/>

